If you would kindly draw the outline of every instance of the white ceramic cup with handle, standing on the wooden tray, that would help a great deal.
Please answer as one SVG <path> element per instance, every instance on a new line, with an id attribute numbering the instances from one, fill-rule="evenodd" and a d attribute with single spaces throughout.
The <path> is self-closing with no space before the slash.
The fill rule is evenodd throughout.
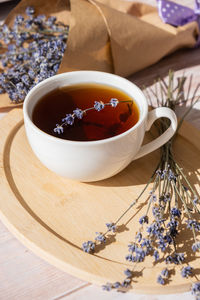
<path id="1" fill-rule="evenodd" d="M 41 97 L 58 87 L 84 83 L 108 85 L 130 95 L 139 108 L 138 122 L 117 136 L 85 142 L 51 136 L 33 124 L 32 112 Z M 68 72 L 44 80 L 27 94 L 23 112 L 26 134 L 39 160 L 53 172 L 83 182 L 102 180 L 117 174 L 131 161 L 165 144 L 177 128 L 177 118 L 171 109 L 159 107 L 148 112 L 147 100 L 136 85 L 117 75 L 97 71 Z M 63 112 L 64 115 L 66 113 Z M 170 127 L 152 142 L 141 146 L 145 131 L 161 117 L 170 119 Z"/>

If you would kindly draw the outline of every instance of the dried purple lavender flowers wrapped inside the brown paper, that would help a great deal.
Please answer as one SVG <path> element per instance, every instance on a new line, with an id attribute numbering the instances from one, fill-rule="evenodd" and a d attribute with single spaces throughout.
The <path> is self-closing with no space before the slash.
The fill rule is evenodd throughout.
<path id="1" fill-rule="evenodd" d="M 0 94 L 8 93 L 13 103 L 57 73 L 69 31 L 54 16 L 36 16 L 33 7 L 26 8 L 26 15 L 17 15 L 12 28 L 0 26 Z"/>

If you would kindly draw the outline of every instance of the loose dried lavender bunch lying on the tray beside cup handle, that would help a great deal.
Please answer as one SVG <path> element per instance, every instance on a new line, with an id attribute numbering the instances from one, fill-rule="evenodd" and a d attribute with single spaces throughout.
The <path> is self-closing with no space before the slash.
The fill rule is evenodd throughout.
<path id="1" fill-rule="evenodd" d="M 178 105 L 184 104 L 189 99 L 192 77 L 189 79 L 189 88 L 184 90 L 186 77 L 178 79 L 174 86 L 174 73 L 169 72 L 168 83 L 159 79 L 155 83 L 155 90 L 146 89 L 147 97 L 151 103 L 152 95 L 157 100 L 157 106 L 169 107 L 173 110 Z M 191 105 L 184 116 L 180 119 L 177 132 L 193 105 L 199 101 L 196 97 L 199 90 L 198 85 L 193 93 Z M 161 99 L 161 100 L 158 100 Z M 161 134 L 169 127 L 169 121 L 163 119 L 155 124 Z M 147 195 L 146 213 L 138 220 L 138 231 L 133 241 L 128 245 L 128 254 L 125 259 L 133 263 L 131 269 L 124 271 L 125 278 L 122 282 L 107 283 L 104 290 L 124 290 L 131 286 L 136 275 L 135 267 L 143 262 L 147 256 L 151 256 L 154 264 L 159 264 L 160 258 L 164 257 L 167 267 L 157 276 L 157 283 L 164 285 L 172 276 L 172 268 L 180 272 L 183 278 L 191 277 L 194 269 L 187 263 L 186 252 L 180 252 L 177 244 L 177 237 L 181 235 L 181 224 L 184 222 L 187 229 L 191 231 L 193 244 L 190 252 L 200 251 L 200 199 L 195 188 L 187 179 L 184 170 L 177 163 L 173 154 L 173 141 L 175 136 L 161 148 L 161 157 L 158 166 L 155 168 L 149 182 L 146 184 L 140 195 L 130 206 L 113 222 L 106 223 L 105 232 L 96 233 L 94 241 L 83 243 L 83 250 L 87 253 L 94 253 L 99 244 L 105 243 L 108 233 L 117 233 L 117 227 L 126 213 L 138 202 L 145 193 L 147 187 L 152 183 L 152 190 Z M 183 216 L 185 221 L 183 221 Z M 162 255 L 162 256 L 161 256 Z M 200 282 L 192 283 L 192 293 L 196 299 L 200 299 Z"/>

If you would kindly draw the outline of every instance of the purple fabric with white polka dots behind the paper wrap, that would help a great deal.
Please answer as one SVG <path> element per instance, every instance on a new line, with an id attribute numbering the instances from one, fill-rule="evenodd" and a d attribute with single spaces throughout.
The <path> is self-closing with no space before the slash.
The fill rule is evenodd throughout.
<path id="1" fill-rule="evenodd" d="M 157 0 L 157 4 L 164 23 L 177 27 L 196 21 L 200 27 L 200 0 L 195 0 L 194 10 L 169 0 Z M 200 46 L 200 36 L 195 46 Z"/>

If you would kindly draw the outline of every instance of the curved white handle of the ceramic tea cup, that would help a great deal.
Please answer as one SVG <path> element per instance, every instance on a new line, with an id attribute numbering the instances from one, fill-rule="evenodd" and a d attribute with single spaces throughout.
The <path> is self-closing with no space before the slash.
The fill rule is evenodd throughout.
<path id="1" fill-rule="evenodd" d="M 173 110 L 168 107 L 158 107 L 148 113 L 146 131 L 151 128 L 155 120 L 159 118 L 168 118 L 171 121 L 170 127 L 161 136 L 157 137 L 152 142 L 142 146 L 133 160 L 138 159 L 164 145 L 176 132 L 177 117 Z"/>

